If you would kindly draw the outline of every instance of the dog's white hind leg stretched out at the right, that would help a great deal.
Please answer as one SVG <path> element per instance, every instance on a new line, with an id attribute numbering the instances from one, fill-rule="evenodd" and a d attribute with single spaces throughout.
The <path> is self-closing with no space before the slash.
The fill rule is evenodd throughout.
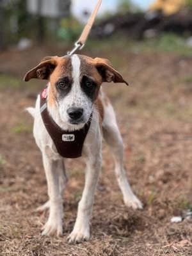
<path id="1" fill-rule="evenodd" d="M 113 157 L 115 159 L 115 173 L 118 185 L 124 196 L 124 203 L 133 209 L 142 209 L 143 205 L 140 200 L 132 192 L 131 186 L 127 180 L 124 169 L 124 146 L 122 136 L 116 124 L 116 117 L 113 107 L 108 102 L 107 106 L 104 105 L 104 121 L 102 131 L 106 143 L 108 143 Z"/>

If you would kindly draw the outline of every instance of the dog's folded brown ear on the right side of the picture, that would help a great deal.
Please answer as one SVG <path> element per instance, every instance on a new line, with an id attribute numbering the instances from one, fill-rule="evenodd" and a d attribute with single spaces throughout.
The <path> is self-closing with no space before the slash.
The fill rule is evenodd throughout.
<path id="1" fill-rule="evenodd" d="M 122 75 L 111 66 L 111 63 L 108 60 L 95 58 L 94 61 L 95 67 L 97 68 L 99 74 L 102 76 L 103 82 L 125 83 L 129 85 L 127 81 L 125 81 L 125 79 L 122 77 Z"/>

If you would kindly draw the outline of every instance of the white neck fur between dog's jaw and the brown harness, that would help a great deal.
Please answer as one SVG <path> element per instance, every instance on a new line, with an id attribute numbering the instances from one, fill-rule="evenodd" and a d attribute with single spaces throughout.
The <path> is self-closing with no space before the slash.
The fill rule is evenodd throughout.
<path id="1" fill-rule="evenodd" d="M 67 124 L 66 122 L 63 122 L 60 117 L 59 109 L 58 109 L 58 103 L 55 102 L 54 105 L 49 105 L 49 89 L 50 89 L 50 83 L 47 84 L 47 110 L 49 112 L 49 115 L 51 115 L 52 119 L 56 124 L 63 129 L 64 131 L 77 131 L 84 127 L 84 124 Z"/>

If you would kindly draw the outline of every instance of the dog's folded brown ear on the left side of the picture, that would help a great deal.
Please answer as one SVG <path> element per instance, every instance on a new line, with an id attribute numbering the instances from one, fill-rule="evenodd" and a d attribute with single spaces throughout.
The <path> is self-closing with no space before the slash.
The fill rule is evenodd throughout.
<path id="1" fill-rule="evenodd" d="M 28 71 L 24 77 L 24 81 L 29 81 L 32 78 L 49 79 L 54 68 L 58 65 L 57 56 L 45 57 L 35 68 Z"/>

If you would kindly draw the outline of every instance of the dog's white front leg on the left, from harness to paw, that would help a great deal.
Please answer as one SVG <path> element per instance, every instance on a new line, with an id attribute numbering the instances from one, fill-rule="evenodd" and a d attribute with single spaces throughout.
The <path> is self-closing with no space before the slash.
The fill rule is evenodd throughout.
<path id="1" fill-rule="evenodd" d="M 43 163 L 45 175 L 47 178 L 48 195 L 49 195 L 49 219 L 43 228 L 42 235 L 57 236 L 63 234 L 62 218 L 63 218 L 63 202 L 60 191 L 60 168 L 63 166 L 62 159 L 51 159 L 47 154 L 43 153 Z"/>

